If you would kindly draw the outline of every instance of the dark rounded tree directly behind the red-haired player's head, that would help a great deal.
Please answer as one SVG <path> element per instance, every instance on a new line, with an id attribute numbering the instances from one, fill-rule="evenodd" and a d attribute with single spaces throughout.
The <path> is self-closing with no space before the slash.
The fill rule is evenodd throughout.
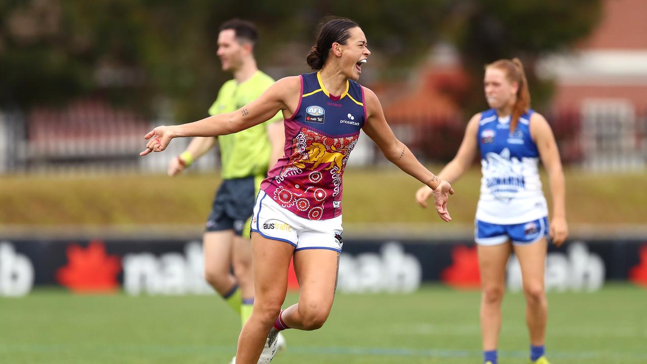
<path id="1" fill-rule="evenodd" d="M 538 80 L 536 61 L 572 48 L 590 34 L 601 15 L 600 0 L 456 1 L 445 31 L 472 76 L 463 106 L 470 113 L 483 108 L 484 65 L 517 57 L 524 64 L 532 102 L 542 108 L 553 93 L 553 84 Z"/>

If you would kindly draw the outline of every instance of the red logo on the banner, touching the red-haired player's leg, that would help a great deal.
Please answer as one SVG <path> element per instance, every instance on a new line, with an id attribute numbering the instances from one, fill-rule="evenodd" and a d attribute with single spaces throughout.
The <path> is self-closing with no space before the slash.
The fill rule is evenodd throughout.
<path id="1" fill-rule="evenodd" d="M 470 289 L 481 286 L 479 258 L 476 247 L 460 245 L 452 249 L 452 265 L 443 269 L 441 280 L 454 288 Z"/>

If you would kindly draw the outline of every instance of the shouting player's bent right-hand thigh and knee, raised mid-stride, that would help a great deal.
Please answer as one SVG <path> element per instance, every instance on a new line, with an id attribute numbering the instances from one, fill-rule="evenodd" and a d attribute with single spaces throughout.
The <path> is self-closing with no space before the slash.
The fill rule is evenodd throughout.
<path id="1" fill-rule="evenodd" d="M 333 307 L 339 253 L 308 249 L 294 253 L 294 273 L 299 280 L 299 302 L 286 308 L 281 319 L 291 328 L 316 330 L 323 326 Z"/>

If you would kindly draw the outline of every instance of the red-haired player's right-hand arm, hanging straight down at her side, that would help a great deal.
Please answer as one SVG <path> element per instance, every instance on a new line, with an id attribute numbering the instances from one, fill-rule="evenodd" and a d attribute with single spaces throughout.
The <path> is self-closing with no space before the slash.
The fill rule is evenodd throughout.
<path id="1" fill-rule="evenodd" d="M 530 133 L 532 140 L 537 145 L 543 166 L 548 172 L 553 197 L 553 218 L 551 219 L 551 238 L 555 245 L 560 246 L 568 237 L 566 223 L 564 171 L 560 152 L 553 135 L 553 130 L 546 119 L 539 113 L 533 113 L 530 120 Z"/>

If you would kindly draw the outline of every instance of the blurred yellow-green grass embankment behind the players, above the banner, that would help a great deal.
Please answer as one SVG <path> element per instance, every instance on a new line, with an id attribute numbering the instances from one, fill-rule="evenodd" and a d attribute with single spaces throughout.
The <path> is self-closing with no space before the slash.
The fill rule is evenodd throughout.
<path id="1" fill-rule="evenodd" d="M 439 168 L 432 167 L 434 171 Z M 470 225 L 480 172 L 454 183 L 448 208 L 455 225 Z M 544 187 L 547 178 L 542 176 Z M 600 178 L 567 170 L 567 218 L 576 225 L 647 222 L 647 176 Z M 219 183 L 217 174 L 0 177 L 0 225 L 202 225 Z M 344 223 L 441 223 L 414 203 L 421 184 L 395 168 L 349 168 L 344 176 Z M 547 194 L 549 196 L 549 194 Z M 549 197 L 550 198 L 550 197 Z"/>

